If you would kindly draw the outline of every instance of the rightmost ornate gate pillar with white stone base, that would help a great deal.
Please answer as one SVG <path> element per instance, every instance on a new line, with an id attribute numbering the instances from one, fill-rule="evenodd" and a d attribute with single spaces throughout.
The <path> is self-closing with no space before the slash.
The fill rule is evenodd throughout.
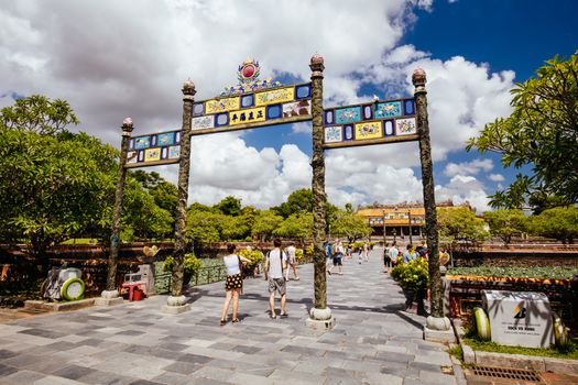
<path id="1" fill-rule="evenodd" d="M 439 274 L 439 252 L 437 233 L 436 199 L 434 191 L 434 164 L 432 162 L 432 144 L 429 141 L 429 122 L 427 117 L 427 91 L 425 70 L 417 68 L 412 76 L 415 87 L 415 105 L 417 113 L 417 132 L 419 134 L 419 160 L 422 162 L 422 184 L 424 186 L 425 232 L 427 239 L 427 255 L 429 261 L 429 297 L 432 315 L 427 317 L 425 338 L 427 340 L 454 339 L 449 319 L 444 317 L 441 277 Z M 446 333 L 448 332 L 448 333 Z"/>

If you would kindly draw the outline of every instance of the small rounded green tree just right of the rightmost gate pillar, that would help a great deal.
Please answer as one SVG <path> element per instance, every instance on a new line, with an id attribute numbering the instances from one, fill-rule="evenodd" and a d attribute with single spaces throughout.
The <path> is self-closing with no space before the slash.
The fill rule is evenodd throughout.
<path id="1" fill-rule="evenodd" d="M 486 221 L 467 207 L 438 208 L 437 226 L 439 237 L 447 243 L 458 240 L 480 243 L 489 237 Z"/>

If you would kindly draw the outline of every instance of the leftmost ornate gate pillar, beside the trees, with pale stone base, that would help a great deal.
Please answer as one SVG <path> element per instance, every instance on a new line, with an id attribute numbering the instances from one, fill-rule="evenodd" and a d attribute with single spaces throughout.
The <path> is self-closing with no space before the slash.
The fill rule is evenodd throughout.
<path id="1" fill-rule="evenodd" d="M 122 302 L 117 289 L 117 265 L 120 246 L 120 216 L 122 213 L 122 198 L 124 196 L 124 179 L 127 176 L 127 155 L 129 153 L 129 141 L 133 130 L 131 118 L 122 121 L 122 141 L 120 144 L 119 177 L 117 180 L 117 191 L 114 194 L 114 206 L 112 208 L 112 227 L 110 229 L 110 251 L 108 255 L 107 287 L 98 298 L 97 305 L 117 305 Z"/>

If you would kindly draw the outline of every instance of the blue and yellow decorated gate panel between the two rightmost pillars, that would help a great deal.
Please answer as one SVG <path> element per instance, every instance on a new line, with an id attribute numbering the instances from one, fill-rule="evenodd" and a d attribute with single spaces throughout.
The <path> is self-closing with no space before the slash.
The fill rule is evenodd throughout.
<path id="1" fill-rule="evenodd" d="M 324 130 L 325 148 L 406 142 L 419 138 L 413 98 L 326 109 Z"/>

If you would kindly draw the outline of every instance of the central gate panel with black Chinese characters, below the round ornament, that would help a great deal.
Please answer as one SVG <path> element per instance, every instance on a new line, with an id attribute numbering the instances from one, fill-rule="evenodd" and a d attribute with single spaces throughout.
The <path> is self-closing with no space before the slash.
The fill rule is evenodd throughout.
<path id="1" fill-rule="evenodd" d="M 284 86 L 193 105 L 192 135 L 312 119 L 312 85 Z"/>

